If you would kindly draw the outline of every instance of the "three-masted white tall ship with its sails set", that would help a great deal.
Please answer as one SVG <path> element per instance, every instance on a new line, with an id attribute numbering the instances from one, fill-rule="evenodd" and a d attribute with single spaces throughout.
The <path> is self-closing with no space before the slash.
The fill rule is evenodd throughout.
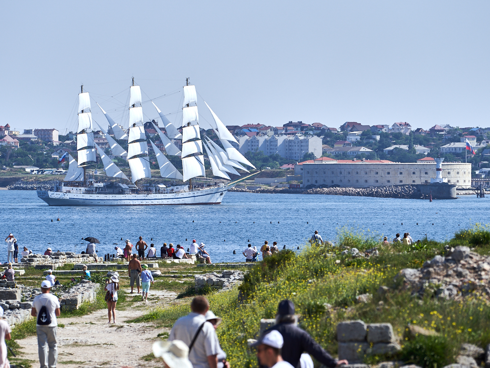
<path id="1" fill-rule="evenodd" d="M 152 123 L 152 125 L 159 134 L 166 154 L 177 156 L 182 160 L 182 173 L 172 165 L 171 161 L 150 140 L 160 169 L 160 176 L 183 181 L 183 185 L 145 183 L 145 178 L 151 178 L 150 158 L 144 127 L 143 106 L 141 105 L 141 88 L 139 85 L 134 84 L 133 78 L 132 85 L 129 88 L 128 129 L 124 130 L 121 128 L 98 104 L 109 123 L 114 138 L 95 122 L 99 130 L 105 134 L 112 155 L 123 157 L 127 161 L 131 178 L 129 179 L 95 142 L 90 96 L 88 92 L 83 92 L 82 85 L 78 94 L 77 158 L 69 154 L 68 173 L 63 182 L 55 184 L 52 191 L 38 190 L 38 197 L 49 206 L 221 204 L 223 196 L 229 188 L 255 175 L 247 175 L 232 182 L 229 174 L 240 176 L 236 169 L 249 173 L 244 165 L 254 169 L 255 166 L 232 146 L 230 141 L 237 142 L 235 137 L 226 129 L 206 102 L 204 103 L 211 112 L 213 121 L 202 122 L 201 126 L 199 126 L 196 86 L 189 84 L 189 79 L 186 79 L 186 85 L 183 90 L 184 102 L 182 105 L 182 122 L 180 124 L 172 124 L 165 114 L 151 101 L 162 119 L 165 133 L 160 130 L 157 124 Z M 179 131 L 180 129 L 181 132 Z M 202 137 L 201 130 L 203 130 Z M 208 130 L 215 132 L 222 147 L 205 134 L 205 131 Z M 117 142 L 117 140 L 122 139 L 128 141 L 127 151 Z M 182 141 L 182 150 L 174 144 L 177 139 Z M 213 176 L 221 178 L 219 183 L 196 184 L 199 180 L 198 178 L 206 177 L 203 147 L 209 159 Z M 96 155 L 99 155 L 108 178 L 122 178 L 127 180 L 127 184 L 100 183 L 93 174 L 88 173 L 87 171 L 90 167 L 95 167 Z M 223 182 L 222 179 L 230 182 Z"/>

